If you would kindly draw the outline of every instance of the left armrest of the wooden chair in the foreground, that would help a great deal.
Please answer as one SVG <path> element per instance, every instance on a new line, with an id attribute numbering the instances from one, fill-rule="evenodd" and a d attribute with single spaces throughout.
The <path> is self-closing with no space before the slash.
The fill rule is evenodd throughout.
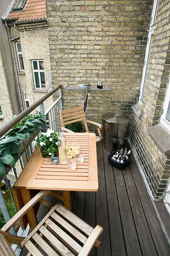
<path id="1" fill-rule="evenodd" d="M 50 193 L 50 190 L 41 190 L 37 195 L 35 195 L 27 204 L 25 204 L 24 207 L 20 211 L 18 211 L 14 217 L 12 217 L 3 227 L 2 231 L 8 231 L 12 226 L 14 226 L 15 223 L 21 217 L 31 208 L 36 204 L 41 198 L 43 198 L 45 195 L 48 195 Z"/>

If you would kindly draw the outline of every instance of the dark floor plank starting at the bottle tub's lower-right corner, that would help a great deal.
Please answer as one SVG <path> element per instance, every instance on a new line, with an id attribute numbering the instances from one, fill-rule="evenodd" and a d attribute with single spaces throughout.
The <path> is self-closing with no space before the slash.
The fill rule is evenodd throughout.
<path id="1" fill-rule="evenodd" d="M 148 252 L 152 256 L 157 256 L 155 245 L 150 234 L 148 223 L 145 218 L 145 214 L 137 193 L 137 189 L 130 171 L 129 165 L 124 168 L 123 176 L 126 183 L 128 197 L 133 213 L 133 219 L 137 229 L 139 242 L 143 256 L 148 256 Z"/>

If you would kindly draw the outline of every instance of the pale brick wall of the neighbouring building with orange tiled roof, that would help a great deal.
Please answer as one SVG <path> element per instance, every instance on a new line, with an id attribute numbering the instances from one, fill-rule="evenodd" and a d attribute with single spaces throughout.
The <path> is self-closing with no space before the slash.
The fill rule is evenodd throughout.
<path id="1" fill-rule="evenodd" d="M 19 78 L 19 84 L 21 88 L 21 95 L 23 105 L 25 109 L 24 93 L 29 94 L 29 105 L 33 104 L 36 100 L 40 99 L 49 91 L 48 86 L 48 70 L 51 76 L 51 65 L 49 57 L 49 42 L 48 42 L 48 29 L 46 23 L 34 23 L 29 25 L 17 25 L 17 29 L 14 25 L 10 24 L 11 36 L 19 39 L 13 41 L 14 55 L 17 64 L 17 73 Z M 24 62 L 25 73 L 19 72 L 19 64 L 17 58 L 16 42 L 21 42 L 22 56 Z M 33 81 L 33 69 L 32 60 L 43 59 L 44 61 L 44 73 L 46 90 L 35 89 Z M 53 97 L 49 97 L 44 102 L 44 110 L 49 108 L 53 103 Z M 37 113 L 40 108 L 37 107 L 33 112 Z"/>

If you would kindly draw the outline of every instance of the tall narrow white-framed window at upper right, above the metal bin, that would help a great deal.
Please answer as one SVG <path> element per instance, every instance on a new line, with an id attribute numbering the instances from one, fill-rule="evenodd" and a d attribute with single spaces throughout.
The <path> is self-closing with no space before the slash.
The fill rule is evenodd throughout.
<path id="1" fill-rule="evenodd" d="M 141 90 L 140 90 L 140 94 L 139 94 L 139 102 L 140 103 L 142 103 L 143 96 L 144 96 L 146 74 L 148 71 L 149 55 L 150 55 L 151 46 L 152 46 L 152 38 L 153 38 L 153 32 L 154 32 L 154 28 L 155 28 L 155 20 L 156 20 L 156 12 L 158 9 L 158 3 L 159 3 L 159 0 L 154 0 L 154 2 L 153 2 L 153 10 L 152 10 L 152 15 L 151 15 L 151 20 L 150 20 L 148 41 L 147 41 L 147 45 L 146 45 L 145 60 L 144 60 L 143 73 L 142 73 Z"/>

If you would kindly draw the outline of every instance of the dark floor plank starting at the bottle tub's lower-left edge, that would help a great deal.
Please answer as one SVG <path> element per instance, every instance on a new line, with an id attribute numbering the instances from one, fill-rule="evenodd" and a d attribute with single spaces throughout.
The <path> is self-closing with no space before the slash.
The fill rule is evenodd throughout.
<path id="1" fill-rule="evenodd" d="M 133 221 L 133 215 L 126 191 L 122 170 L 113 167 L 116 190 L 122 219 L 123 233 L 125 237 L 127 255 L 141 256 L 141 249 L 137 237 L 136 228 Z"/>

